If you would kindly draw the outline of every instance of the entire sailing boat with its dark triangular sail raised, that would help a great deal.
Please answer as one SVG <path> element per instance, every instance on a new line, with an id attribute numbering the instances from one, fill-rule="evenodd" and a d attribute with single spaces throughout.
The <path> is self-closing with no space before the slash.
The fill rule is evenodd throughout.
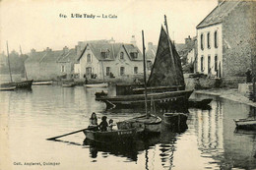
<path id="1" fill-rule="evenodd" d="M 166 20 L 165 20 L 165 26 Z M 166 27 L 167 30 L 167 27 Z M 156 59 L 150 78 L 149 97 L 153 97 L 156 105 L 168 107 L 169 105 L 183 106 L 188 103 L 188 98 L 193 90 L 186 90 L 181 68 L 180 58 L 172 44 L 167 31 L 160 28 L 160 40 Z M 134 88 L 132 94 L 116 96 L 98 96 L 96 100 L 106 103 L 108 108 L 144 106 L 145 88 Z M 150 101 L 148 101 L 150 102 Z"/>

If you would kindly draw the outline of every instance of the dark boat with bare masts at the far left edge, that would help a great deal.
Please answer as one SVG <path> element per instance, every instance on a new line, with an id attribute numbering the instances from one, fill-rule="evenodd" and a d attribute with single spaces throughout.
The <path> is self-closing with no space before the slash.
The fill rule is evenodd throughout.
<path id="1" fill-rule="evenodd" d="M 9 73 L 10 73 L 10 81 L 11 83 L 7 83 L 7 84 L 1 84 L 0 85 L 0 89 L 4 89 L 7 90 L 8 88 L 13 89 L 14 86 L 15 88 L 23 88 L 23 89 L 31 89 L 32 88 L 32 80 L 29 81 L 27 78 L 27 74 L 25 73 L 26 79 L 27 81 L 23 81 L 23 82 L 13 82 L 13 78 L 12 78 L 12 72 L 11 72 L 11 64 L 10 64 L 10 59 L 9 59 L 9 49 L 8 49 L 8 42 L 6 42 L 7 45 L 7 56 L 8 56 L 8 67 L 9 67 Z M 25 71 L 26 72 L 26 71 Z"/>

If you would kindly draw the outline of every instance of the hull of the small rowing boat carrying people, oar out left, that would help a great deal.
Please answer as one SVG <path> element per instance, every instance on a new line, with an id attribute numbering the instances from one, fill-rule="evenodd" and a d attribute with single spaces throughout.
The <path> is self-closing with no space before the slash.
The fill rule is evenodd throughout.
<path id="1" fill-rule="evenodd" d="M 117 130 L 117 131 L 83 131 L 86 138 L 96 142 L 125 142 L 136 137 L 136 129 Z"/>

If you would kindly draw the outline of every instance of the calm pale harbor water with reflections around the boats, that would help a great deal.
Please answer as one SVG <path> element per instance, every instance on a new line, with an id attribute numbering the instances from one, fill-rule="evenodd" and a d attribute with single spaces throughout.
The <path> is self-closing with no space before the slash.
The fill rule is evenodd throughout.
<path id="1" fill-rule="evenodd" d="M 105 104 L 95 100 L 95 92 L 101 90 L 107 88 L 38 85 L 32 90 L 0 91 L 5 166 L 14 170 L 256 169 L 256 133 L 235 131 L 233 122 L 255 116 L 255 109 L 218 97 L 211 102 L 212 109 L 189 108 L 188 129 L 182 133 L 171 132 L 162 122 L 159 136 L 127 146 L 85 144 L 83 133 L 58 142 L 45 140 L 87 128 L 92 112 L 98 121 L 105 115 L 114 122 L 144 113 L 136 108 L 105 110 Z M 162 118 L 160 112 L 157 108 Z"/>

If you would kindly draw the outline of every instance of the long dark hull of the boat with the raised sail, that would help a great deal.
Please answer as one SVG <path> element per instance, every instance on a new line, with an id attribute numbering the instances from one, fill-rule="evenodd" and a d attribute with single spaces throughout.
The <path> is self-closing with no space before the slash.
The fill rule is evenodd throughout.
<path id="1" fill-rule="evenodd" d="M 153 98 L 156 105 L 161 107 L 169 105 L 186 105 L 193 90 L 166 91 L 148 94 L 148 98 Z M 106 103 L 107 108 L 145 106 L 145 94 L 99 96 L 96 100 Z M 151 102 L 150 100 L 148 101 Z"/>

